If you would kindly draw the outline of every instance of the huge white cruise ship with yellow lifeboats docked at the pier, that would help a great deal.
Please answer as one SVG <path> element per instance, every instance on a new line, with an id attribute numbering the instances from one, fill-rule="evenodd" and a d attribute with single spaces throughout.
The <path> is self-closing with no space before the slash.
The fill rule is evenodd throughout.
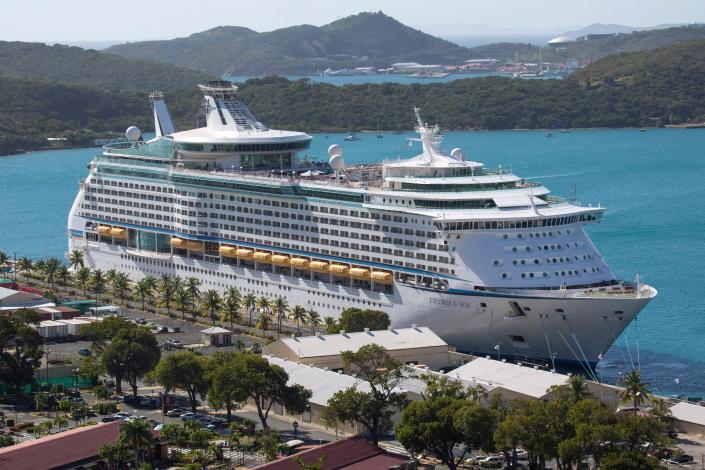
<path id="1" fill-rule="evenodd" d="M 459 351 L 553 367 L 594 366 L 656 295 L 616 278 L 586 234 L 604 208 L 446 152 L 418 109 L 418 156 L 347 165 L 331 145 L 316 162 L 310 135 L 269 129 L 233 84 L 199 87 L 202 127 L 177 130 L 155 92 L 155 138 L 132 127 L 90 163 L 67 230 L 88 266 L 322 316 L 379 309 Z"/>

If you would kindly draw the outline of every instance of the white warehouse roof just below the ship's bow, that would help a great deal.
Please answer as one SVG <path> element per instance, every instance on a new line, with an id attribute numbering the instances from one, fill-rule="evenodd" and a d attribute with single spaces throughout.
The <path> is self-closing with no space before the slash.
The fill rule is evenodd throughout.
<path id="1" fill-rule="evenodd" d="M 568 381 L 567 375 L 485 358 L 475 359 L 447 375 L 486 382 L 534 398 L 542 398 L 551 386 Z"/>

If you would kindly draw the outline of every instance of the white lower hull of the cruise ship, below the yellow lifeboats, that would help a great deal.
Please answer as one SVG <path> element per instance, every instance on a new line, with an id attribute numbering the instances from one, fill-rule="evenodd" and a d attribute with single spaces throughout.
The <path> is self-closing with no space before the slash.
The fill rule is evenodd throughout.
<path id="1" fill-rule="evenodd" d="M 545 364 L 553 359 L 556 364 L 593 366 L 656 294 L 648 287 L 640 294 L 594 297 L 575 296 L 570 290 L 517 290 L 516 295 L 439 292 L 398 283 L 393 294 L 385 294 L 71 239 L 69 249 L 77 248 L 85 250 L 87 266 L 118 269 L 133 281 L 147 275 L 194 276 L 203 282 L 203 289 L 234 286 L 244 294 L 283 296 L 292 306 L 334 318 L 348 307 L 377 308 L 389 314 L 393 327 L 428 326 L 459 351 L 526 357 Z M 523 315 L 516 315 L 510 302 L 517 302 Z"/>

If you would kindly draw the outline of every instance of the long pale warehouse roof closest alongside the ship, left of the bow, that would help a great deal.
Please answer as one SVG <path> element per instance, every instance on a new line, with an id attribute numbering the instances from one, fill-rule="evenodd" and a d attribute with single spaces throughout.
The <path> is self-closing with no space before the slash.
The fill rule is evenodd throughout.
<path id="1" fill-rule="evenodd" d="M 280 341 L 300 358 L 338 356 L 343 351 L 357 351 L 368 344 L 378 344 L 388 351 L 447 346 L 445 341 L 427 327 L 302 336 L 281 338 Z"/>

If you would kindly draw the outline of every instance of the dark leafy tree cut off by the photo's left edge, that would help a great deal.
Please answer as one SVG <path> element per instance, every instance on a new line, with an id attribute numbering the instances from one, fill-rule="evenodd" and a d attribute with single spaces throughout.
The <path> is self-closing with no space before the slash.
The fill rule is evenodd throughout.
<path id="1" fill-rule="evenodd" d="M 34 310 L 18 309 L 12 316 L 0 315 L 0 382 L 16 393 L 34 383 L 42 359 L 42 337 L 32 328 L 41 318 Z"/>

